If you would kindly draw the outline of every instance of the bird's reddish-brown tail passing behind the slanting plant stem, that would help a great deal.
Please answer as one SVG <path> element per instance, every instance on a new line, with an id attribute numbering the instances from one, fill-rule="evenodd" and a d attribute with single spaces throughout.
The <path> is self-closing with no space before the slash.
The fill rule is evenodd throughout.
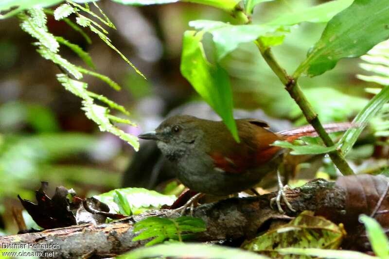
<path id="1" fill-rule="evenodd" d="M 327 133 L 334 133 L 334 132 L 346 131 L 349 128 L 355 127 L 355 124 L 352 122 L 328 123 L 328 124 L 324 124 L 323 127 Z M 282 135 L 286 141 L 293 141 L 303 136 L 309 136 L 309 137 L 318 136 L 318 133 L 311 125 L 306 125 L 291 130 L 280 131 L 278 132 L 278 134 Z"/>

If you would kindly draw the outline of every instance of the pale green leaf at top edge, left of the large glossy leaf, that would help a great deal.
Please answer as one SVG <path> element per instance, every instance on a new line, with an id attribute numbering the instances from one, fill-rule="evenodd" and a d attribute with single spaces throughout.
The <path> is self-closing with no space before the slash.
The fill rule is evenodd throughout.
<path id="1" fill-rule="evenodd" d="M 337 13 L 347 8 L 354 0 L 335 0 L 322 3 L 313 7 L 297 9 L 295 12 L 281 14 L 270 21 L 271 25 L 294 25 L 301 22 L 328 22 Z"/>

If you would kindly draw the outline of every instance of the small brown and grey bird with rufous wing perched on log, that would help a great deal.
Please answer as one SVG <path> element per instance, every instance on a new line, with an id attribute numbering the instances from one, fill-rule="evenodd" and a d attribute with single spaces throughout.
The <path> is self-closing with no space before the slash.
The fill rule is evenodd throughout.
<path id="1" fill-rule="evenodd" d="M 311 126 L 272 132 L 265 121 L 235 120 L 239 141 L 223 121 L 210 121 L 189 115 L 177 115 L 162 121 L 150 132 L 138 136 L 157 141 L 162 154 L 170 161 L 178 180 L 199 194 L 225 196 L 248 190 L 268 173 L 277 173 L 285 149 L 272 144 L 277 140 L 291 142 L 302 136 L 318 136 Z M 350 122 L 325 124 L 328 133 L 345 131 Z M 282 182 L 281 182 L 282 185 Z M 280 185 L 280 188 L 281 188 Z M 282 188 L 277 196 L 286 205 Z M 281 196 L 280 196 L 281 195 Z"/>

